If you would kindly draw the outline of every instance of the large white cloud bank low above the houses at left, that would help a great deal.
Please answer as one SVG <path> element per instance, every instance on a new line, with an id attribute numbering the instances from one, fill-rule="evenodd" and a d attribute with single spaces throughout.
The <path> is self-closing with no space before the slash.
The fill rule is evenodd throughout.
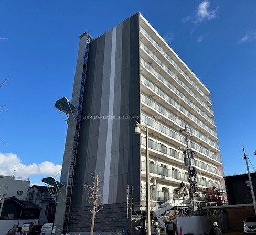
<path id="1" fill-rule="evenodd" d="M 0 153 L 0 175 L 14 175 L 16 177 L 31 178 L 33 176 L 54 176 L 60 174 L 61 165 L 44 161 L 40 164 L 31 163 L 25 165 L 22 160 L 14 153 Z"/>

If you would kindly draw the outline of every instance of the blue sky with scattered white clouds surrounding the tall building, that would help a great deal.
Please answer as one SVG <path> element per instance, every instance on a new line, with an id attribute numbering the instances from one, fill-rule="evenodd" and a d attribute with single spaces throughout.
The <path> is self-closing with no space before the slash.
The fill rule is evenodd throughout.
<path id="1" fill-rule="evenodd" d="M 98 37 L 141 12 L 212 95 L 225 175 L 256 168 L 256 1 L 0 2 L 0 175 L 59 177 L 79 36 Z M 6 144 L 6 146 L 5 146 Z"/>

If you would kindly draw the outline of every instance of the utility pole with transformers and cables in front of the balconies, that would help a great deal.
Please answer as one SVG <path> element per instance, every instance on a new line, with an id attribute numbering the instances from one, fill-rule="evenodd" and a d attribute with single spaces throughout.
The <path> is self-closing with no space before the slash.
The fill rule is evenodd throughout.
<path id="1" fill-rule="evenodd" d="M 195 204 L 195 183 L 196 183 L 196 175 L 195 172 L 193 172 L 193 168 L 191 165 L 191 159 L 195 158 L 195 151 L 190 150 L 189 149 L 189 140 L 188 137 L 192 137 L 191 135 L 191 131 L 188 131 L 188 129 L 190 129 L 190 127 L 188 127 L 187 125 L 185 125 L 185 129 L 180 129 L 177 130 L 177 132 L 185 132 L 185 139 L 186 139 L 186 151 L 183 152 L 184 155 L 184 164 L 185 166 L 188 167 L 188 181 L 190 184 L 190 197 L 191 197 L 191 212 L 192 215 L 195 215 L 195 211 L 196 211 L 196 204 Z M 193 179 L 192 179 L 193 177 Z"/>

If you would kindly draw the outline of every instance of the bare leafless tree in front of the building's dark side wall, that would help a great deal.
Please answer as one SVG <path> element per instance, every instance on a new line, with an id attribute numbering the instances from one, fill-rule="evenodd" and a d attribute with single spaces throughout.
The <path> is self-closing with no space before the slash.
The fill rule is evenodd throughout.
<path id="1" fill-rule="evenodd" d="M 93 185 L 84 184 L 84 187 L 90 191 L 88 193 L 88 202 L 92 203 L 92 209 L 90 209 L 92 212 L 90 235 L 93 235 L 95 215 L 103 209 L 103 207 L 99 208 L 102 205 L 102 193 L 99 194 L 99 183 L 102 181 L 99 180 L 99 177 L 100 173 L 92 175 Z"/>

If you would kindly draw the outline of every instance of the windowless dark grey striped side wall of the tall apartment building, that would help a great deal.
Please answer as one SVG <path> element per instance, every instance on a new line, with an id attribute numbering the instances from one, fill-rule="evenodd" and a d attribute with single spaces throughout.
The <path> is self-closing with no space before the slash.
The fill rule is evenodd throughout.
<path id="1" fill-rule="evenodd" d="M 83 185 L 92 184 L 91 173 L 101 173 L 104 192 L 94 231 L 120 231 L 126 226 L 127 186 L 133 186 L 133 202 L 140 204 L 140 136 L 134 135 L 139 119 L 131 118 L 140 117 L 138 29 L 136 14 L 90 43 L 82 114 L 113 117 L 82 120 L 69 232 L 84 231 L 90 223 Z M 115 208 L 113 217 L 110 205 Z M 108 219 L 103 225 L 104 218 Z"/>

